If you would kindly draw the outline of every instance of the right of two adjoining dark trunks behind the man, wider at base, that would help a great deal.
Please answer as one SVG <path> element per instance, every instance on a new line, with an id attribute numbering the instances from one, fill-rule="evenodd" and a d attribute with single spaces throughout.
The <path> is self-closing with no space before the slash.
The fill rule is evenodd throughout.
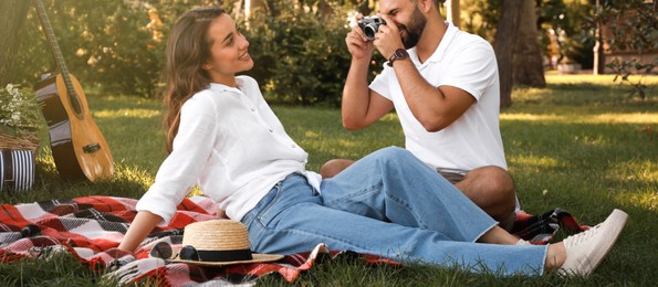
<path id="1" fill-rule="evenodd" d="M 534 0 L 521 0 L 519 28 L 514 45 L 512 83 L 531 87 L 545 87 L 544 65 L 540 50 Z"/>

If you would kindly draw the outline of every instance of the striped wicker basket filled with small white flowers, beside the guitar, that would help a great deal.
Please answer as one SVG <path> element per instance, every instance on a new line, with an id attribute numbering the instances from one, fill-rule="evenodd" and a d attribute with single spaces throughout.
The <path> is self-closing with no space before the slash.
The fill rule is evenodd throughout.
<path id="1" fill-rule="evenodd" d="M 45 127 L 34 94 L 20 85 L 0 87 L 0 191 L 32 188 L 34 153 Z"/>

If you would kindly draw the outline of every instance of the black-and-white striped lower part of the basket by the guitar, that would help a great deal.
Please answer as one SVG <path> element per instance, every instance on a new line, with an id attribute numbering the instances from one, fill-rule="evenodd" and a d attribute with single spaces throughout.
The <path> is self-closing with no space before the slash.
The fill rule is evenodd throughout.
<path id="1" fill-rule="evenodd" d="M 22 192 L 34 184 L 34 151 L 0 150 L 0 192 Z"/>

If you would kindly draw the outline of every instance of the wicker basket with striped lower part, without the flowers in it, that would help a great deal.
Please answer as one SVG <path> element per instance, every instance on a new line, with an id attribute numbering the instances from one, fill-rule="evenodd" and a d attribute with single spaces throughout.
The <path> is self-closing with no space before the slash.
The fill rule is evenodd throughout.
<path id="1" fill-rule="evenodd" d="M 23 192 L 34 184 L 34 153 L 39 138 L 34 134 L 13 137 L 0 134 L 0 192 Z"/>

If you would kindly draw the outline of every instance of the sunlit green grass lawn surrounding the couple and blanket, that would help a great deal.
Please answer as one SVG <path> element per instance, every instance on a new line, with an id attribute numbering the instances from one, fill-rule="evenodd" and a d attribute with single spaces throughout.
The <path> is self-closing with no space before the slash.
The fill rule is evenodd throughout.
<path id="1" fill-rule="evenodd" d="M 452 268 L 372 266 L 351 259 L 327 262 L 304 273 L 294 285 L 310 286 L 518 286 L 655 284 L 658 274 L 658 76 L 646 78 L 649 98 L 625 95 L 612 76 L 549 76 L 546 88 L 518 87 L 513 105 L 501 114 L 510 172 L 522 206 L 530 213 L 553 208 L 582 223 L 600 222 L 614 209 L 630 220 L 617 245 L 589 278 L 499 278 Z M 38 159 L 34 190 L 2 203 L 71 199 L 91 194 L 139 198 L 165 158 L 161 105 L 134 97 L 88 95 L 95 121 L 114 156 L 116 177 L 91 184 L 61 180 L 48 149 Z M 273 107 L 288 132 L 311 155 L 309 169 L 332 158 L 361 158 L 387 146 L 403 146 L 395 114 L 361 131 L 341 126 L 337 109 Z M 48 269 L 44 274 L 42 270 Z M 112 285 L 67 256 L 52 262 L 0 264 L 0 285 Z M 262 285 L 288 286 L 278 276 Z"/>

